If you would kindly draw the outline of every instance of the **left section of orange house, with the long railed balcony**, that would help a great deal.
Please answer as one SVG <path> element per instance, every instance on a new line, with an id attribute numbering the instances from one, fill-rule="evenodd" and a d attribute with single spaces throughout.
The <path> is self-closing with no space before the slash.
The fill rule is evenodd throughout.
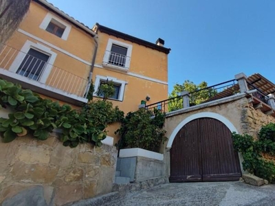
<path id="1" fill-rule="evenodd" d="M 47 1 L 32 0 L 1 49 L 0 76 L 46 98 L 81 106 L 87 103 L 95 36 Z"/>

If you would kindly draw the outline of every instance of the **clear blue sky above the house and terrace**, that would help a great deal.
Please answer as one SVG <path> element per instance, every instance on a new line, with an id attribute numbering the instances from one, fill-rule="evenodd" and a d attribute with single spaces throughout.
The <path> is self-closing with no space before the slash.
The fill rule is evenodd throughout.
<path id="1" fill-rule="evenodd" d="M 96 22 L 155 43 L 165 41 L 169 91 L 236 73 L 275 82 L 274 0 L 48 0 L 78 21 Z"/>

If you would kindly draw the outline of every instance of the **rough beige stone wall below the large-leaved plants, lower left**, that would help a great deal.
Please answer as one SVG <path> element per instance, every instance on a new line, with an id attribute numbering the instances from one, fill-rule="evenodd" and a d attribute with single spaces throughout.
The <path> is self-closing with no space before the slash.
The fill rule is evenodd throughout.
<path id="1" fill-rule="evenodd" d="M 35 191 L 41 191 L 45 205 L 65 205 L 111 192 L 116 157 L 115 147 L 69 148 L 54 134 L 46 141 L 18 137 L 8 144 L 0 142 L 0 204 L 5 200 L 3 205 L 17 205 L 16 201 L 23 201 L 19 198 L 23 190 L 24 199 L 32 198 L 34 187 L 41 188 Z M 11 198 L 15 194 L 19 197 Z"/>

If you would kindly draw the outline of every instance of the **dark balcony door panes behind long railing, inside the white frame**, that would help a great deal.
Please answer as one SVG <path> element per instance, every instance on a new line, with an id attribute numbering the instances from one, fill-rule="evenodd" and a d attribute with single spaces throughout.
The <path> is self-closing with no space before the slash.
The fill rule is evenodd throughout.
<path id="1" fill-rule="evenodd" d="M 21 76 L 39 81 L 49 58 L 49 55 L 31 48 L 21 62 L 19 69 L 17 69 L 17 73 Z"/>

